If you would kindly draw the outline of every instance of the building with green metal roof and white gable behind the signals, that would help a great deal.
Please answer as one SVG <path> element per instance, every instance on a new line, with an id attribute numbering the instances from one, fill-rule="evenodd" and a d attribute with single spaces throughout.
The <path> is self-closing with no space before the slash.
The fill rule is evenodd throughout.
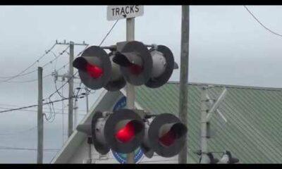
<path id="1" fill-rule="evenodd" d="M 188 87 L 188 163 L 198 163 L 200 156 L 200 84 Z M 209 151 L 231 151 L 240 163 L 281 163 L 282 162 L 282 92 L 281 89 L 264 87 L 242 87 L 212 84 L 209 96 L 216 99 L 226 87 L 227 94 L 219 110 L 225 116 L 225 123 L 219 115 L 211 121 L 212 138 Z M 178 114 L 178 82 L 168 82 L 158 89 L 136 87 L 135 105 L 152 113 Z M 102 92 L 99 99 L 81 123 L 90 122 L 95 111 L 110 111 L 116 103 L 122 104 L 125 91 Z M 137 154 L 138 155 L 138 154 Z M 215 154 L 220 158 L 221 154 Z M 75 131 L 51 163 L 87 163 L 90 145 L 87 136 Z M 111 151 L 99 156 L 91 147 L 92 163 L 119 163 L 121 158 Z M 117 160 L 118 159 L 118 160 Z M 137 163 L 178 163 L 178 157 L 140 157 Z"/>

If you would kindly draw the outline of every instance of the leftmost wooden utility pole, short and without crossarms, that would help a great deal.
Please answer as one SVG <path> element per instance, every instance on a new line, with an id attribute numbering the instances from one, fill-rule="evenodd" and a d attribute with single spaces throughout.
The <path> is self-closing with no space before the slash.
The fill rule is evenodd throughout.
<path id="1" fill-rule="evenodd" d="M 37 163 L 43 163 L 43 92 L 42 67 L 38 67 L 38 106 L 37 106 Z"/>

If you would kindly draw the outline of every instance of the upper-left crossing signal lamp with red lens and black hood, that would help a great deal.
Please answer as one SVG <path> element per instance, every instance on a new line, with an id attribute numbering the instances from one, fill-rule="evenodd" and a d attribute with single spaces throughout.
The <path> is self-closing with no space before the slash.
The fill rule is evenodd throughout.
<path id="1" fill-rule="evenodd" d="M 78 69 L 80 79 L 86 87 L 104 87 L 109 91 L 116 91 L 123 88 L 126 82 L 118 65 L 111 61 L 112 57 L 112 53 L 107 54 L 99 46 L 90 46 L 73 61 L 73 67 Z"/>

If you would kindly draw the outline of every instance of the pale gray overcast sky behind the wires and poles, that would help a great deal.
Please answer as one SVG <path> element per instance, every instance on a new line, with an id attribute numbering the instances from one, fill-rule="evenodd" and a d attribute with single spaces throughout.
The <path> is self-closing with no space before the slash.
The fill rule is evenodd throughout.
<path id="1" fill-rule="evenodd" d="M 282 34 L 282 6 L 248 8 L 264 25 Z M 25 69 L 42 56 L 56 39 L 98 45 L 115 21 L 106 20 L 106 6 L 0 6 L 0 22 L 0 77 L 3 77 Z M 168 46 L 179 64 L 180 22 L 181 6 L 145 6 L 144 15 L 135 19 L 135 39 L 146 44 Z M 124 40 L 125 20 L 119 20 L 103 45 Z M 243 6 L 190 6 L 189 82 L 281 87 L 281 42 L 281 37 L 265 30 Z M 59 54 L 65 48 L 56 46 L 53 51 Z M 82 46 L 75 46 L 75 54 L 82 49 Z M 30 70 L 53 58 L 51 53 L 48 54 Z M 64 54 L 56 66 L 51 64 L 44 68 L 44 75 L 66 63 L 68 55 Z M 59 73 L 67 70 L 65 68 Z M 36 78 L 37 73 L 32 73 L 12 81 Z M 179 80 L 179 70 L 174 71 L 171 80 Z M 58 86 L 62 84 L 57 83 Z M 9 108 L 6 104 L 37 104 L 36 81 L 0 82 L 0 91 L 0 108 Z M 49 76 L 44 79 L 44 97 L 54 91 L 54 77 Z M 64 96 L 67 96 L 67 86 Z M 91 95 L 90 100 L 93 102 L 95 98 Z M 55 99 L 60 97 L 52 98 Z M 67 101 L 64 103 L 66 106 Z M 79 101 L 79 106 L 80 113 L 84 114 L 85 99 Z M 62 105 L 55 104 L 55 107 L 62 108 Z M 49 109 L 48 106 L 44 108 Z M 28 110 L 36 111 L 36 108 Z M 36 112 L 32 111 L 0 114 L 0 163 L 36 162 L 36 151 L 1 149 L 1 146 L 35 149 L 37 130 L 26 130 L 35 127 L 36 117 Z M 64 115 L 65 134 L 66 117 Z M 57 114 L 53 123 L 44 123 L 44 147 L 59 149 L 62 142 L 62 115 Z M 45 151 L 44 162 L 48 163 L 54 154 Z"/>

